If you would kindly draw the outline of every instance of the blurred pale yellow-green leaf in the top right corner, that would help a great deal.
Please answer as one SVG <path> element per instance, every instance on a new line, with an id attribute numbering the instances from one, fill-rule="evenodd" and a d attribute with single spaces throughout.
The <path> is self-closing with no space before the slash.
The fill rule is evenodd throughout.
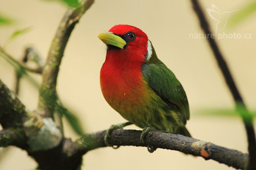
<path id="1" fill-rule="evenodd" d="M 256 12 L 256 0 L 251 1 L 243 8 L 239 9 L 235 14 L 232 14 L 229 19 L 229 26 L 236 26 L 241 21 L 244 21 L 249 16 Z"/>

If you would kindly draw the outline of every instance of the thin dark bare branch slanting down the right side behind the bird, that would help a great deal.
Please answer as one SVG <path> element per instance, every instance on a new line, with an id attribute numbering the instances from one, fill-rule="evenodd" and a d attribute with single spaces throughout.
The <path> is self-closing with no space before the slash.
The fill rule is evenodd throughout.
<path id="1" fill-rule="evenodd" d="M 212 32 L 210 31 L 210 28 L 209 28 L 209 24 L 207 22 L 206 17 L 204 16 L 201 6 L 198 3 L 198 0 L 191 0 L 191 1 L 192 1 L 194 11 L 197 14 L 198 19 L 200 21 L 201 28 L 204 30 L 204 33 L 207 35 L 212 35 Z M 207 42 L 209 43 L 212 49 L 212 52 L 214 54 L 216 61 L 218 62 L 218 66 L 221 70 L 221 73 L 223 74 L 226 84 L 230 89 L 230 92 L 233 96 L 234 101 L 236 102 L 237 111 L 240 113 L 244 122 L 245 130 L 247 134 L 247 141 L 248 141 L 248 151 L 249 151 L 248 170 L 255 170 L 256 169 L 256 161 L 255 161 L 256 160 L 256 140 L 255 140 L 253 123 L 252 123 L 252 116 L 246 109 L 244 101 L 238 91 L 238 88 L 236 87 L 235 81 L 230 73 L 230 70 L 227 66 L 226 61 L 224 60 L 223 55 L 220 52 L 220 49 L 218 48 L 218 45 L 215 39 L 212 38 L 212 36 L 207 36 L 207 37 L 208 37 Z"/>

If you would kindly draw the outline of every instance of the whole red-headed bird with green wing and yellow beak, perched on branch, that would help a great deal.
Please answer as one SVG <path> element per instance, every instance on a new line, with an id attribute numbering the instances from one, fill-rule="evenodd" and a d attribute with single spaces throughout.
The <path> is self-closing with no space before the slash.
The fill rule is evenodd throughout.
<path id="1" fill-rule="evenodd" d="M 142 142 L 151 130 L 191 137 L 185 127 L 190 115 L 186 93 L 175 74 L 158 59 L 147 34 L 120 24 L 98 37 L 107 45 L 100 70 L 102 94 L 128 120 L 114 128 L 137 125 L 143 128 Z M 149 152 L 154 150 L 148 146 Z"/>

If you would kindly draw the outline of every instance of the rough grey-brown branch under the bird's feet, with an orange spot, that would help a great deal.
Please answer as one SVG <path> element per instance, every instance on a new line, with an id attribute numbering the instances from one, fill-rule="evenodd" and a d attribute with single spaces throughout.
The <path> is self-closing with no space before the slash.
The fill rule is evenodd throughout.
<path id="1" fill-rule="evenodd" d="M 84 154 L 89 150 L 98 147 L 106 147 L 104 136 L 106 131 L 92 133 L 83 136 L 73 145 L 66 148 L 70 155 Z M 236 169 L 245 170 L 247 167 L 248 155 L 237 150 L 221 147 L 210 142 L 189 138 L 182 135 L 175 135 L 163 132 L 149 132 L 145 136 L 145 144 L 140 141 L 140 130 L 113 130 L 109 142 L 118 146 L 143 146 L 177 150 L 193 156 L 201 156 L 204 159 L 212 159 L 219 163 Z"/>

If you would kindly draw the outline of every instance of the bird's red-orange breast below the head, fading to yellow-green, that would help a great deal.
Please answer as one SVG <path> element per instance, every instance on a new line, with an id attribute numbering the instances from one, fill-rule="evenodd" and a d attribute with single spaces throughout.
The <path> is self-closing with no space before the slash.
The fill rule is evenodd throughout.
<path id="1" fill-rule="evenodd" d="M 126 54 L 117 54 L 108 51 L 100 72 L 100 84 L 106 101 L 115 110 L 119 110 L 115 106 L 127 110 L 132 102 L 140 102 L 145 93 L 142 62 L 134 62 Z"/>

